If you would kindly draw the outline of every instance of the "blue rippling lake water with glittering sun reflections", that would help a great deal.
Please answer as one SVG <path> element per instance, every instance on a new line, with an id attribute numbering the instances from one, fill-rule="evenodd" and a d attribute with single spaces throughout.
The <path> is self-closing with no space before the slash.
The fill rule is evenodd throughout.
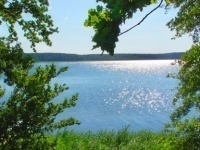
<path id="1" fill-rule="evenodd" d="M 166 78 L 176 73 L 173 60 L 55 62 L 69 70 L 53 82 L 66 83 L 69 90 L 59 95 L 61 101 L 79 93 L 74 108 L 57 119 L 75 117 L 81 125 L 68 127 L 74 131 L 118 130 L 127 125 L 134 131 L 162 130 L 173 111 L 173 89 L 178 81 Z M 36 65 L 46 65 L 39 62 Z"/>

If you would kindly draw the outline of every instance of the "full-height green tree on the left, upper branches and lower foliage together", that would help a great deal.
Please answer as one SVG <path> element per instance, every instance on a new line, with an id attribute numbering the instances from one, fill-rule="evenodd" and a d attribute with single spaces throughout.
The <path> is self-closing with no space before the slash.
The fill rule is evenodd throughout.
<path id="1" fill-rule="evenodd" d="M 51 84 L 51 79 L 67 70 L 54 64 L 33 69 L 34 60 L 24 56 L 18 36 L 21 27 L 24 37 L 36 52 L 36 44 L 51 46 L 49 36 L 58 29 L 47 14 L 48 0 L 1 0 L 0 26 L 7 32 L 0 37 L 0 75 L 13 87 L 10 97 L 0 100 L 0 149 L 53 149 L 56 140 L 48 140 L 47 133 L 68 125 L 79 124 L 74 118 L 55 122 L 55 117 L 66 108 L 75 106 L 78 95 L 61 103 L 53 98 L 68 89 Z M 0 86 L 0 97 L 6 89 Z"/>

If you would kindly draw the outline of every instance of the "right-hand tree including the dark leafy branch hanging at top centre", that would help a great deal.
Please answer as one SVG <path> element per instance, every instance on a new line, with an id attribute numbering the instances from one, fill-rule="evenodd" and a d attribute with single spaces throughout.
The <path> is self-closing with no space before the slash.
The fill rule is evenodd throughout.
<path id="1" fill-rule="evenodd" d="M 102 51 L 105 50 L 113 55 L 115 42 L 118 41 L 118 36 L 123 34 L 120 33 L 119 25 L 125 23 L 126 19 L 132 18 L 137 9 L 142 11 L 143 7 L 157 1 L 97 0 L 97 2 L 103 2 L 104 7 L 97 6 L 96 9 L 90 9 L 85 26 L 91 26 L 95 30 L 92 41 L 96 45 L 93 49 L 100 47 Z M 160 1 L 158 6 L 162 2 L 163 0 Z M 200 145 L 200 1 L 166 0 L 165 2 L 167 10 L 172 7 L 179 8 L 177 16 L 167 23 L 171 30 L 176 31 L 174 38 L 189 34 L 194 42 L 191 49 L 178 61 L 181 69 L 175 75 L 175 78 L 179 79 L 180 83 L 177 86 L 173 103 L 178 103 L 179 106 L 171 115 L 172 124 L 167 125 L 167 127 L 168 129 L 172 128 L 178 136 L 184 137 L 177 148 L 198 149 Z M 149 14 L 132 28 L 143 22 Z M 125 33 L 128 31 L 130 30 L 125 31 Z M 196 115 L 189 119 L 187 116 L 191 111 L 195 111 Z"/>

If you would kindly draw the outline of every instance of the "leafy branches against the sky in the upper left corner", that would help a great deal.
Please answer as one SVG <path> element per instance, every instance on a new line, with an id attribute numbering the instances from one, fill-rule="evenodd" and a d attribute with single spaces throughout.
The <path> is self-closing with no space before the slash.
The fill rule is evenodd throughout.
<path id="1" fill-rule="evenodd" d="M 18 41 L 16 24 L 21 26 L 24 37 L 31 42 L 31 47 L 36 51 L 36 43 L 45 42 L 51 45 L 49 35 L 58 32 L 54 28 L 51 16 L 47 14 L 48 0 L 2 0 L 0 2 L 0 25 L 7 25 L 9 36 L 6 39 L 8 44 Z M 23 16 L 27 15 L 29 17 Z M 27 18 L 27 19 L 25 19 Z"/>

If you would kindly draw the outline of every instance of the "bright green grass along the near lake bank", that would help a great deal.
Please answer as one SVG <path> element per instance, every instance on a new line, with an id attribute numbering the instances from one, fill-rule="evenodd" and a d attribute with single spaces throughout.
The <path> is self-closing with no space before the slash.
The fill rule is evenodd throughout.
<path id="1" fill-rule="evenodd" d="M 185 140 L 173 133 L 131 132 L 128 128 L 96 133 L 64 131 L 57 136 L 57 150 L 176 150 L 184 149 L 181 143 Z"/>

